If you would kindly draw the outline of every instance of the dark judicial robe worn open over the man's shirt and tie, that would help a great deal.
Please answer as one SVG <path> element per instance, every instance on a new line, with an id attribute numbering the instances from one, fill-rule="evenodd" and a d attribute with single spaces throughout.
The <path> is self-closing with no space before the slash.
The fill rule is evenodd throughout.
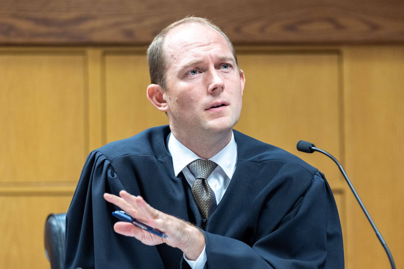
<path id="1" fill-rule="evenodd" d="M 126 190 L 154 208 L 202 218 L 182 173 L 174 176 L 168 126 L 91 152 L 67 211 L 65 268 L 189 268 L 181 250 L 116 234 L 103 193 Z M 236 171 L 204 236 L 205 268 L 343 268 L 341 225 L 324 175 L 300 158 L 234 131 Z"/>

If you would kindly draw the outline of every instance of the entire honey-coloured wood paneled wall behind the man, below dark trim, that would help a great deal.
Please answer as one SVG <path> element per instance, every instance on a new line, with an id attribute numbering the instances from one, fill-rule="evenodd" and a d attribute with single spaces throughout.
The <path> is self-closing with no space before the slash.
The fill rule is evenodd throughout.
<path id="1" fill-rule="evenodd" d="M 326 174 L 346 268 L 388 268 L 335 164 L 295 145 L 309 140 L 339 158 L 404 267 L 404 46 L 236 50 L 246 88 L 235 128 Z M 90 150 L 167 123 L 148 84 L 142 47 L 0 48 L 1 268 L 49 268 L 46 215 L 67 210 Z"/>

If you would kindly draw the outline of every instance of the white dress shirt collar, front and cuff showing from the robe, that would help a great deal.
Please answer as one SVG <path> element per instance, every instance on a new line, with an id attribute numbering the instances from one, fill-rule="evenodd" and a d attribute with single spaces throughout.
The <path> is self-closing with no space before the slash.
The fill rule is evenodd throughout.
<path id="1" fill-rule="evenodd" d="M 192 186 L 195 181 L 195 177 L 189 171 L 187 165 L 192 161 L 200 159 L 200 157 L 192 152 L 189 148 L 181 144 L 181 142 L 175 138 L 173 133 L 170 133 L 170 137 L 168 138 L 168 151 L 173 157 L 175 176 L 177 177 L 182 171 L 188 184 Z M 209 160 L 217 163 L 216 169 L 213 170 L 207 180 L 210 188 L 215 193 L 216 202 L 219 204 L 230 184 L 231 177 L 233 177 L 234 171 L 236 170 L 237 144 L 234 140 L 233 133 L 231 133 L 230 142 Z M 185 261 L 187 261 L 192 269 L 202 269 L 205 266 L 205 248 L 206 245 L 196 261 L 190 261 L 184 255 Z"/>

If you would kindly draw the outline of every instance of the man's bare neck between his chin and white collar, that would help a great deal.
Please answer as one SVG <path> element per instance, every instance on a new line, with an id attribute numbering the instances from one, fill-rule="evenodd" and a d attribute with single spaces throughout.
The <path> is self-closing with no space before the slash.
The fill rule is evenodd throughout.
<path id="1" fill-rule="evenodd" d="M 221 151 L 231 140 L 232 129 L 226 133 L 189 137 L 171 131 L 175 138 L 202 159 L 209 159 Z"/>

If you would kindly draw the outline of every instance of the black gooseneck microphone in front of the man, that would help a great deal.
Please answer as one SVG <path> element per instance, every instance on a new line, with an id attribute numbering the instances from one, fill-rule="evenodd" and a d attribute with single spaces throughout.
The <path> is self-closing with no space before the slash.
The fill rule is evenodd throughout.
<path id="1" fill-rule="evenodd" d="M 314 146 L 313 143 L 310 143 L 310 142 L 307 142 L 304 140 L 300 140 L 299 142 L 297 142 L 296 148 L 297 148 L 297 150 L 299 150 L 301 152 L 306 152 L 306 153 L 313 153 L 315 151 L 321 152 L 322 154 L 325 154 L 326 156 L 330 157 L 332 159 L 332 161 L 334 161 L 338 165 L 338 168 L 341 171 L 342 175 L 345 177 L 345 180 L 347 181 L 349 188 L 351 188 L 353 195 L 355 196 L 356 200 L 358 200 L 358 203 L 360 204 L 360 207 L 362 208 L 363 212 L 365 213 L 366 217 L 368 218 L 370 225 L 372 225 L 372 228 L 375 231 L 377 238 L 379 238 L 380 243 L 382 244 L 384 250 L 386 251 L 386 254 L 389 257 L 391 268 L 396 269 L 396 265 L 394 264 L 393 256 L 391 255 L 389 247 L 387 246 L 383 237 L 379 233 L 379 230 L 376 228 L 375 223 L 372 221 L 372 218 L 370 217 L 368 211 L 366 210 L 365 206 L 363 205 L 362 200 L 360 200 L 358 194 L 356 193 L 355 188 L 353 188 L 351 181 L 349 180 L 347 174 L 345 173 L 345 170 L 342 168 L 342 165 L 339 163 L 339 161 L 334 156 L 329 154 L 328 152 L 326 152 L 320 148 L 316 148 L 316 146 Z"/>

